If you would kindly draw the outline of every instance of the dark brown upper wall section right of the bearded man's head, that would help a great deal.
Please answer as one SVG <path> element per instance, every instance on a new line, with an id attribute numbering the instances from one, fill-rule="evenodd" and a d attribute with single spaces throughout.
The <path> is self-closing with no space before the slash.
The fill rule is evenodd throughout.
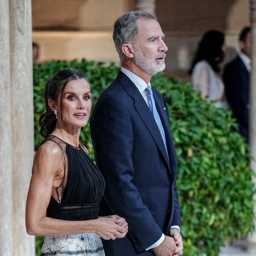
<path id="1" fill-rule="evenodd" d="M 233 30 L 249 22 L 249 0 L 157 1 L 163 30 L 200 35 L 208 29 Z"/>

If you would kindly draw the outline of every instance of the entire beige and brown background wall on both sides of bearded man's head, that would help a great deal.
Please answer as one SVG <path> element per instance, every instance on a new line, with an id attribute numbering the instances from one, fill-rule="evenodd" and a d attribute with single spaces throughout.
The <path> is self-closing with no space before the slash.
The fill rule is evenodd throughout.
<path id="1" fill-rule="evenodd" d="M 33 41 L 41 60 L 86 58 L 119 63 L 113 23 L 133 11 L 132 0 L 32 0 Z M 43 4 L 42 4 L 43 3 Z M 156 0 L 156 15 L 166 34 L 166 71 L 184 79 L 196 46 L 208 29 L 226 34 L 226 61 L 237 51 L 237 36 L 249 22 L 249 0 Z"/>

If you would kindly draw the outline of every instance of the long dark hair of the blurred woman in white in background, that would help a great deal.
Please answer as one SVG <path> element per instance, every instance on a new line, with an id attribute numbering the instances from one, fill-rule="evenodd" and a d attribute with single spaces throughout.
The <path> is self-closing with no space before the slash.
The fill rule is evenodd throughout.
<path id="1" fill-rule="evenodd" d="M 224 44 L 224 34 L 218 30 L 209 30 L 199 42 L 196 56 L 192 61 L 192 66 L 189 73 L 192 73 L 193 68 L 197 62 L 206 60 L 215 72 L 219 72 L 220 68 L 218 64 L 222 62 L 224 53 L 222 51 L 222 45 Z"/>

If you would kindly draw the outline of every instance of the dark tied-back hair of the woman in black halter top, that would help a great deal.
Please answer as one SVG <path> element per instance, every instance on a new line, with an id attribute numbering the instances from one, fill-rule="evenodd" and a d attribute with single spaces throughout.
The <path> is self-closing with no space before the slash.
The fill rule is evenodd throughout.
<path id="1" fill-rule="evenodd" d="M 48 100 L 52 99 L 54 102 L 58 101 L 60 95 L 60 116 L 62 117 L 62 97 L 66 85 L 76 79 L 85 79 L 89 83 L 89 79 L 82 72 L 67 68 L 57 72 L 53 75 L 45 85 L 45 107 L 46 112 L 39 118 L 41 126 L 40 134 L 43 138 L 47 138 L 56 126 L 56 116 L 53 110 L 48 105 Z"/>

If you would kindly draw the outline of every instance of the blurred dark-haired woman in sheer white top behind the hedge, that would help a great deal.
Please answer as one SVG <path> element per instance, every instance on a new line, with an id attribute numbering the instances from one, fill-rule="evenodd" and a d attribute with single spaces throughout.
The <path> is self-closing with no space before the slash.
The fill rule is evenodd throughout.
<path id="1" fill-rule="evenodd" d="M 202 98 L 215 101 L 216 107 L 228 106 L 219 67 L 225 50 L 224 34 L 218 30 L 207 31 L 199 42 L 189 71 L 194 90 L 200 92 Z"/>

